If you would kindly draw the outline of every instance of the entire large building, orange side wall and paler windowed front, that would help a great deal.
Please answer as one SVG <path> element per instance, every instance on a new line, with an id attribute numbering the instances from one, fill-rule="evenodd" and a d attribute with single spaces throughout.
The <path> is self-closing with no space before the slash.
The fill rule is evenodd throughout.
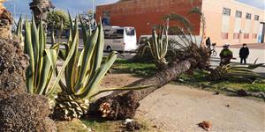
<path id="1" fill-rule="evenodd" d="M 202 32 L 200 16 L 187 15 L 193 7 L 199 7 L 204 13 L 205 32 Z M 194 35 L 204 33 L 217 45 L 264 40 L 265 11 L 235 0 L 128 0 L 96 7 L 97 20 L 102 18 L 105 25 L 133 26 L 138 38 L 151 34 L 151 27 L 164 24 L 163 16 L 171 13 L 187 17 Z M 170 22 L 170 26 L 176 24 Z"/>

